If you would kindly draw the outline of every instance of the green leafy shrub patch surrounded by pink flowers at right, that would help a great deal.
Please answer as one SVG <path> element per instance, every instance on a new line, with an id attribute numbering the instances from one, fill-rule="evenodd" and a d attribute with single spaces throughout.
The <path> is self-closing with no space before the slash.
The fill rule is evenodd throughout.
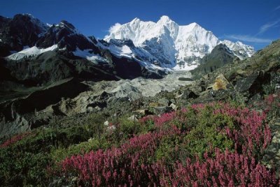
<path id="1" fill-rule="evenodd" d="M 205 151 L 215 147 L 221 150 L 234 148 L 232 140 L 223 133 L 225 126 L 235 128 L 234 120 L 225 114 L 214 114 L 214 108 L 206 107 L 200 115 L 193 117 L 197 124 L 184 137 L 188 157 L 197 155 L 202 158 Z"/>

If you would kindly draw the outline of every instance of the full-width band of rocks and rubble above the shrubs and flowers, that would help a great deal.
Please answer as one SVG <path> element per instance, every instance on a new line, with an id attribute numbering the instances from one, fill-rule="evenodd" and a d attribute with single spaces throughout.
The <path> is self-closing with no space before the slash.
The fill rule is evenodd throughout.
<path id="1" fill-rule="evenodd" d="M 61 118 L 62 121 L 71 119 L 73 122 L 76 121 L 73 117 L 78 115 L 77 120 L 82 120 L 83 115 L 91 112 L 106 113 L 108 116 L 131 114 L 133 110 L 139 110 L 141 114 L 149 112 L 160 114 L 190 103 L 229 98 L 239 103 L 258 103 L 260 98 L 269 94 L 267 87 L 275 90 L 275 85 L 280 84 L 279 45 L 280 42 L 276 41 L 257 52 L 251 59 L 227 63 L 195 81 L 190 79 L 190 73 L 182 71 L 167 75 L 162 80 L 142 78 L 101 82 L 66 80 L 52 84 L 25 98 L 1 103 L 3 119 L 1 126 L 5 126 L 2 135 L 21 131 L 22 128 L 18 128 L 20 124 L 27 130 L 49 124 L 54 117 Z M 224 45 L 220 47 L 225 49 Z M 73 81 L 76 83 L 72 84 Z M 77 85 L 83 90 L 78 91 L 76 95 L 68 96 L 62 91 L 65 90 L 65 84 L 68 85 L 65 86 L 67 90 L 76 89 Z M 49 89 L 61 95 L 55 94 L 55 98 L 50 100 L 52 103 L 40 103 L 38 106 L 27 104 L 28 100 L 40 100 L 50 96 Z M 29 112 L 25 112 L 25 105 L 30 107 Z M 71 125 L 72 122 L 66 124 Z"/>

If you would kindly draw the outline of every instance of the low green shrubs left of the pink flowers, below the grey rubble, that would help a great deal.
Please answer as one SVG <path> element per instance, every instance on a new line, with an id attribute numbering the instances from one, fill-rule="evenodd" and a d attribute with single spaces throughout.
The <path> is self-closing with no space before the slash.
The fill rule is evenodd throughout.
<path id="1" fill-rule="evenodd" d="M 153 130 L 153 124 L 122 117 L 104 125 L 104 117 L 92 114 L 82 126 L 38 128 L 18 142 L 0 147 L 0 183 L 4 186 L 45 186 L 49 183 L 48 167 L 66 157 L 97 149 L 118 147 L 130 137 Z"/>

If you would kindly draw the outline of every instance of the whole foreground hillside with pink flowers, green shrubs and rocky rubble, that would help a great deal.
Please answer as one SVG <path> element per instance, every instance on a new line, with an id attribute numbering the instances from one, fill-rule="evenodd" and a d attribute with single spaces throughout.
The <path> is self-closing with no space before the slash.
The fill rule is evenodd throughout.
<path id="1" fill-rule="evenodd" d="M 1 103 L 26 131 L 3 138 L 1 184 L 278 186 L 279 47 L 200 80 L 176 75 L 185 85 L 155 96 L 143 94 L 141 80 L 70 79 Z M 29 105 L 45 96 L 52 100 Z"/>

